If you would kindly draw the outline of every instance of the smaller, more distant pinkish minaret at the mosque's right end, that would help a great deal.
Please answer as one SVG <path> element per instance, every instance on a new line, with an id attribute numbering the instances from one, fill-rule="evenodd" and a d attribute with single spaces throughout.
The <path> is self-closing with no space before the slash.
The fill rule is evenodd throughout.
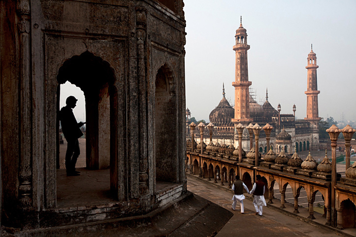
<path id="1" fill-rule="evenodd" d="M 305 94 L 307 95 L 307 118 L 312 126 L 312 139 L 311 139 L 311 149 L 318 149 L 319 147 L 319 109 L 318 109 L 318 94 L 320 91 L 318 90 L 317 83 L 317 57 L 313 52 L 313 45 L 311 52 L 308 54 L 308 65 L 305 67 L 308 69 L 308 85 L 307 91 Z"/>

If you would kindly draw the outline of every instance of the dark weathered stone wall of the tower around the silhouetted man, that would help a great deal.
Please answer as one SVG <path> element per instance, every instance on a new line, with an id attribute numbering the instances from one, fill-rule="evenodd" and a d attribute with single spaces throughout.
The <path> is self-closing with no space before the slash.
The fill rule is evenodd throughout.
<path id="1" fill-rule="evenodd" d="M 170 132 L 157 133 L 170 143 L 169 159 L 157 167 L 173 171 L 159 179 L 185 184 L 182 7 L 182 0 L 175 0 L 174 6 L 156 0 L 0 2 L 1 172 L 6 211 L 15 206 L 56 207 L 58 91 L 65 81 L 84 91 L 87 108 L 95 105 L 89 112 L 94 119 L 87 124 L 94 128 L 88 128 L 87 137 L 91 137 L 90 151 L 99 158 L 95 162 L 89 158 L 89 167 L 109 163 L 110 186 L 119 201 L 132 200 L 136 203 L 132 208 L 141 207 L 140 212 L 157 207 L 152 198 L 157 172 L 155 129 L 162 121 L 155 119 L 155 82 L 163 65 L 172 119 L 165 125 Z M 74 70 L 67 64 L 82 66 Z M 99 94 L 104 85 L 107 93 Z M 100 133 L 103 130 L 109 131 Z M 105 158 L 100 160 L 100 154 Z"/>

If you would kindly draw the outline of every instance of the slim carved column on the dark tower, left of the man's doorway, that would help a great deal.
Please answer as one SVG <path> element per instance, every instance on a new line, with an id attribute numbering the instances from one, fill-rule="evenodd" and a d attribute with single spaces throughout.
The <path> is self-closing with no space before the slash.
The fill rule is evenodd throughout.
<path id="1" fill-rule="evenodd" d="M 19 83 L 20 83 L 20 170 L 19 170 L 19 206 L 32 206 L 32 162 L 31 162 L 31 9 L 29 0 L 17 1 L 19 30 Z"/>

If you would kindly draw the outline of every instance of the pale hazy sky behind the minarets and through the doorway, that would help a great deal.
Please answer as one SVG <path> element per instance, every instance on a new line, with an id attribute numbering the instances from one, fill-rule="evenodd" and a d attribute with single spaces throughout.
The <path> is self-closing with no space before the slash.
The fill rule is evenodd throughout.
<path id="1" fill-rule="evenodd" d="M 208 121 L 222 99 L 234 103 L 235 31 L 247 30 L 249 81 L 256 101 L 265 100 L 282 114 L 306 117 L 307 56 L 317 54 L 319 116 L 356 119 L 356 0 L 185 0 L 187 21 L 186 105 L 192 117 Z M 73 94 L 74 113 L 85 120 L 84 96 L 72 85 L 62 86 L 61 107 Z M 77 92 L 76 92 L 77 91 Z"/>

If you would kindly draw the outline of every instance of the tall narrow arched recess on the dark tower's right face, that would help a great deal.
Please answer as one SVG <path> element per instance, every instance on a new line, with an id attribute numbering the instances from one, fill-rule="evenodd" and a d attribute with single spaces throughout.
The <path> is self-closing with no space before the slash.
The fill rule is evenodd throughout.
<path id="1" fill-rule="evenodd" d="M 174 79 L 164 64 L 155 80 L 156 181 L 178 182 L 177 103 Z"/>

